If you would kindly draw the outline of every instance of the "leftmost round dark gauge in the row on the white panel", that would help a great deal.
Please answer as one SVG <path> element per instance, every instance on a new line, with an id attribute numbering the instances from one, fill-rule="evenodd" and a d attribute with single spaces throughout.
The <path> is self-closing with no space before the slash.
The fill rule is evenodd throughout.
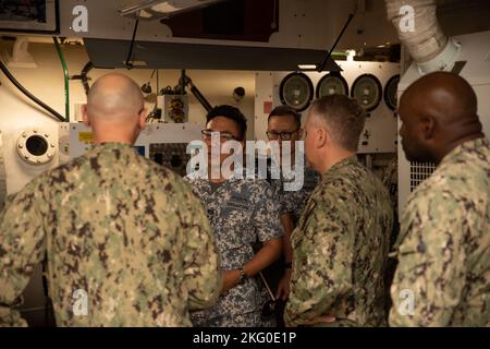
<path id="1" fill-rule="evenodd" d="M 308 108 L 314 96 L 314 86 L 309 77 L 304 73 L 291 73 L 286 75 L 279 87 L 279 97 L 282 104 L 296 111 Z"/>

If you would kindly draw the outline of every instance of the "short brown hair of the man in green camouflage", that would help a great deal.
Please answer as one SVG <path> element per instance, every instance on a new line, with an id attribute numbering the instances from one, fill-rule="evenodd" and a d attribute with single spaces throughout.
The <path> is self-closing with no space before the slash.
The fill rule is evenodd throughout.
<path id="1" fill-rule="evenodd" d="M 366 111 L 357 100 L 338 94 L 323 96 L 314 101 L 313 112 L 329 125 L 338 145 L 357 151 L 366 121 Z"/>

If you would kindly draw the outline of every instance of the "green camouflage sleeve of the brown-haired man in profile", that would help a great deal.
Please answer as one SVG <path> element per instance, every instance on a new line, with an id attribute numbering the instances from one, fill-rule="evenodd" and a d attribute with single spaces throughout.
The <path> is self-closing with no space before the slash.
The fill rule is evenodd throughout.
<path id="1" fill-rule="evenodd" d="M 293 274 L 284 321 L 287 326 L 335 315 L 332 306 L 352 290 L 352 239 L 348 210 L 334 194 L 321 203 L 310 200 L 292 236 Z"/>

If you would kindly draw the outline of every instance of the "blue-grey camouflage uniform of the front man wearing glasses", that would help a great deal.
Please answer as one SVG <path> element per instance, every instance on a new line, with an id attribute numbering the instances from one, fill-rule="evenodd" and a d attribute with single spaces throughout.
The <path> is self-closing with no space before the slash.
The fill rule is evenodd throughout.
<path id="1" fill-rule="evenodd" d="M 189 174 L 185 180 L 207 209 L 222 270 L 241 268 L 250 261 L 257 240 L 281 238 L 279 206 L 266 181 L 232 177 L 215 184 L 197 174 Z M 261 280 L 246 278 L 221 294 L 215 306 L 193 313 L 192 322 L 195 326 L 210 327 L 261 326 L 261 311 L 267 300 Z"/>

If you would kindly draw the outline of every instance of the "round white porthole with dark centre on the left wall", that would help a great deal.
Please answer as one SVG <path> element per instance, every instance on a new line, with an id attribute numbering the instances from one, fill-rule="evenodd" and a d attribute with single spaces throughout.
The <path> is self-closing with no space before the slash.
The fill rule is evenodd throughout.
<path id="1" fill-rule="evenodd" d="M 17 139 L 17 153 L 30 165 L 44 165 L 51 161 L 57 147 L 48 133 L 37 130 L 24 131 Z"/>

